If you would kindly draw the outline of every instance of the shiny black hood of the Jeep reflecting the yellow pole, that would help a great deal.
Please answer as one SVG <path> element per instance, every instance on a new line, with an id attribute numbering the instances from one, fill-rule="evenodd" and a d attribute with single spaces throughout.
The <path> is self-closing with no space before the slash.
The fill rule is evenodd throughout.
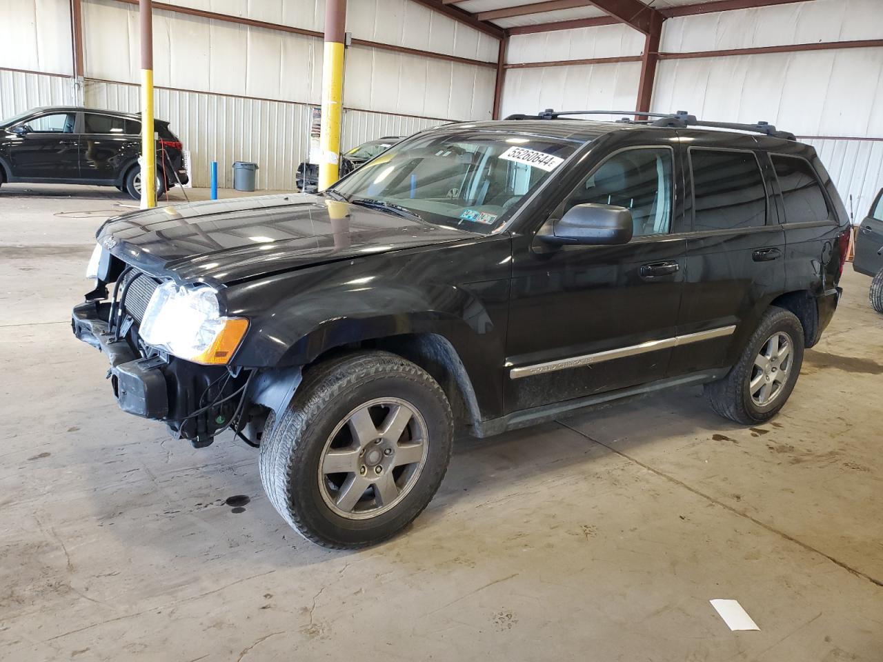
<path id="1" fill-rule="evenodd" d="M 146 209 L 110 219 L 96 237 L 147 273 L 231 283 L 479 235 L 288 193 Z"/>

